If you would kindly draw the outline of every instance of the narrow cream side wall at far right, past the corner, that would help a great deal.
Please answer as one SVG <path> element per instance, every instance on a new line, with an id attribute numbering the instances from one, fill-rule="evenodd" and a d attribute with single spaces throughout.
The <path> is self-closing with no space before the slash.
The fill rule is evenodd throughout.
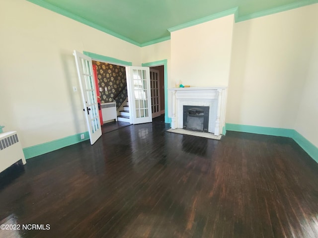
<path id="1" fill-rule="evenodd" d="M 318 147 L 318 4 L 307 9 L 305 27 L 308 64 L 295 129 Z"/>

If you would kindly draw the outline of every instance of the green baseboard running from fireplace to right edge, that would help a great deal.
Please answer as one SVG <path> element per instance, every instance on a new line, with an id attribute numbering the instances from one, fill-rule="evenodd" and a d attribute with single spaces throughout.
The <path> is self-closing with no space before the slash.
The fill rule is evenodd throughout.
<path id="1" fill-rule="evenodd" d="M 290 137 L 318 163 L 318 148 L 294 129 L 226 123 L 225 130 Z"/>

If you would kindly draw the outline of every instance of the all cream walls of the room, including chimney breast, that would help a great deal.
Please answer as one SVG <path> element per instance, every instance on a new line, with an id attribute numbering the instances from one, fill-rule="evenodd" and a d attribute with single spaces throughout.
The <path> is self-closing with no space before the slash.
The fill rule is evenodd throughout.
<path id="1" fill-rule="evenodd" d="M 295 128 L 318 146 L 316 12 L 318 4 L 234 26 L 227 16 L 139 48 L 28 1 L 2 0 L 0 125 L 17 130 L 24 148 L 86 131 L 72 88 L 76 49 L 133 65 L 167 59 L 168 88 L 229 84 L 226 122 Z"/>

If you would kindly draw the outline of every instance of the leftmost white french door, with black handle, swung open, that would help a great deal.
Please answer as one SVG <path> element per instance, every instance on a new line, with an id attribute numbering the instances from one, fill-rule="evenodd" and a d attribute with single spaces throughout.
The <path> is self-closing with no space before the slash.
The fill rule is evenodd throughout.
<path id="1" fill-rule="evenodd" d="M 101 126 L 99 121 L 97 95 L 93 78 L 93 67 L 91 58 L 74 51 L 74 57 L 79 74 L 79 86 L 83 100 L 83 111 L 85 113 L 88 127 L 90 144 L 101 136 Z"/>

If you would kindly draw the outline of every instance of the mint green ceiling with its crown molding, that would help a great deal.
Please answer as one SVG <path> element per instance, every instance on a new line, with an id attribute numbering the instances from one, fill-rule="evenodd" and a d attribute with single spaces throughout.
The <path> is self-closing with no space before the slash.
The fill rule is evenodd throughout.
<path id="1" fill-rule="evenodd" d="M 318 0 L 28 0 L 138 46 L 169 39 L 171 29 L 236 12 L 247 20 Z M 237 11 L 236 11 L 237 10 Z M 199 20 L 198 20 L 199 19 Z"/>

